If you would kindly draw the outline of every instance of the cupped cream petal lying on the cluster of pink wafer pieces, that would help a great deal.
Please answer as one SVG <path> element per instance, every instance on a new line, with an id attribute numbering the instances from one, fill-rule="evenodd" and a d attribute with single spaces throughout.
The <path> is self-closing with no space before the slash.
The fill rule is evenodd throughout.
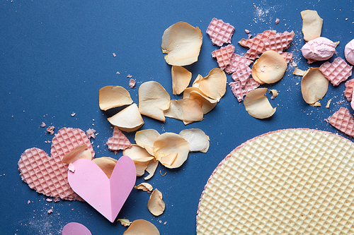
<path id="1" fill-rule="evenodd" d="M 253 64 L 252 77 L 256 77 L 263 83 L 278 82 L 284 76 L 287 62 L 278 52 L 267 51 L 261 54 Z"/>

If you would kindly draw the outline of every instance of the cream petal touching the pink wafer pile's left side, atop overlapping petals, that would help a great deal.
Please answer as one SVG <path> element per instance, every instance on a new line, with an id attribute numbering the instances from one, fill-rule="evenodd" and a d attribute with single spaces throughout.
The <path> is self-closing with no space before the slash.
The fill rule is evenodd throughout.
<path id="1" fill-rule="evenodd" d="M 226 83 L 225 72 L 220 68 L 213 68 L 205 78 L 195 80 L 193 87 L 199 88 L 205 95 L 214 100 L 220 100 L 226 92 Z"/>

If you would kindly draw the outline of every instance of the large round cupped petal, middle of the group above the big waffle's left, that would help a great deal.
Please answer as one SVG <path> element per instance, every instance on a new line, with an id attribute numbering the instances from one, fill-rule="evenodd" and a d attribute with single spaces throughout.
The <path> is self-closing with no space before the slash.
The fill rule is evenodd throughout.
<path id="1" fill-rule="evenodd" d="M 164 164 L 168 168 L 181 167 L 188 157 L 189 144 L 181 135 L 166 132 L 159 135 L 154 142 L 154 156 L 161 162 L 161 157 L 177 152 L 176 159 L 171 164 Z"/>

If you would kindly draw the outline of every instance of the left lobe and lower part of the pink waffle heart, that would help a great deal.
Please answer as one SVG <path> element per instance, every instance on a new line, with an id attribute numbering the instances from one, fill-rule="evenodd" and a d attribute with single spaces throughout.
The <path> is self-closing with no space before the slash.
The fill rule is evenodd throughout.
<path id="1" fill-rule="evenodd" d="M 38 193 L 63 200 L 82 200 L 69 186 L 68 165 L 58 155 L 49 157 L 37 147 L 30 148 L 21 155 L 18 169 L 22 180 Z"/>

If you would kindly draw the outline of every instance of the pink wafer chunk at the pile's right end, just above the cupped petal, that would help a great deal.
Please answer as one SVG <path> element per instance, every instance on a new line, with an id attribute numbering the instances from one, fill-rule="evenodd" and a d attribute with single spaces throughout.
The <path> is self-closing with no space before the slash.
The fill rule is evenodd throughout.
<path id="1" fill-rule="evenodd" d="M 295 36 L 295 32 L 277 32 L 275 35 L 270 35 L 266 40 L 264 40 L 264 50 L 273 50 L 275 52 L 283 52 L 290 46 L 292 38 Z"/>

